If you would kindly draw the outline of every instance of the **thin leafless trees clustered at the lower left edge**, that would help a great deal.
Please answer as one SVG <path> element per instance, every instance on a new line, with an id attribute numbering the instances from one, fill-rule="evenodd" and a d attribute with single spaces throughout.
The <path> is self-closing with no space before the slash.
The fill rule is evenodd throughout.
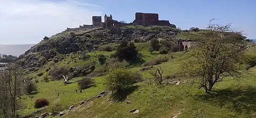
<path id="1" fill-rule="evenodd" d="M 0 117 L 15 117 L 18 98 L 22 94 L 22 71 L 15 63 L 0 70 Z"/>

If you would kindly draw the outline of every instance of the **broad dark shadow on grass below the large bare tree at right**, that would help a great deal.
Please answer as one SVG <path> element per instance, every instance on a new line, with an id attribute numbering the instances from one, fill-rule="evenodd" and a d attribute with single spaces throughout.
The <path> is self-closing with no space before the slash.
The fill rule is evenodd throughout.
<path id="1" fill-rule="evenodd" d="M 218 105 L 239 114 L 252 115 L 256 111 L 256 88 L 223 89 L 212 93 L 197 95 L 199 101 Z"/>

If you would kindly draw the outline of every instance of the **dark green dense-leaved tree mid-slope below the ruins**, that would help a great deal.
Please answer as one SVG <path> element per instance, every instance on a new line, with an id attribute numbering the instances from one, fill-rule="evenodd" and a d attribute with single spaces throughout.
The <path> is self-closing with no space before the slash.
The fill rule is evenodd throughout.
<path id="1" fill-rule="evenodd" d="M 122 41 L 118 46 L 114 57 L 121 60 L 131 61 L 137 59 L 137 55 L 138 51 L 136 50 L 136 46 L 133 42 Z"/>

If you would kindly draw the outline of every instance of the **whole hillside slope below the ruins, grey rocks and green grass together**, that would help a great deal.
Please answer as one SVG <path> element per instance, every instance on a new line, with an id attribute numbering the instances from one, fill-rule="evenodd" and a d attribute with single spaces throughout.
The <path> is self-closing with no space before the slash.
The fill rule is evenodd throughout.
<path id="1" fill-rule="evenodd" d="M 18 112 L 27 117 L 47 112 L 50 114 L 47 117 L 61 115 L 65 118 L 255 117 L 255 74 L 247 76 L 243 81 L 226 79 L 214 87 L 216 93 L 206 94 L 191 84 L 189 78 L 175 77 L 182 69 L 180 63 L 189 58 L 186 52 L 162 55 L 159 51 L 148 51 L 149 40 L 152 38 L 175 43 L 179 38 L 186 39 L 184 34 L 189 32 L 169 27 L 126 26 L 115 30 L 95 28 L 74 33 L 63 31 L 46 37 L 19 57 L 18 61 L 26 69 L 26 78 L 38 81 L 38 92 L 23 95 L 22 109 Z M 130 63 L 113 59 L 116 46 L 122 40 L 135 41 L 136 50 L 142 59 Z M 105 47 L 111 47 L 111 50 L 105 50 Z M 104 65 L 99 62 L 100 55 L 106 57 Z M 163 85 L 155 84 L 150 70 L 141 71 L 145 63 L 163 69 Z M 105 77 L 115 66 L 142 74 L 143 81 L 134 84 L 136 88 L 124 101 L 112 100 L 106 91 Z M 52 70 L 59 70 L 59 73 L 56 72 L 58 75 L 54 76 Z M 250 69 L 252 73 L 255 71 L 255 67 Z M 63 84 L 62 74 L 68 74 L 71 78 L 69 81 L 74 83 Z M 93 78 L 95 85 L 76 92 L 79 90 L 77 81 L 84 77 Z M 50 104 L 45 108 L 34 108 L 35 100 L 42 98 Z M 137 113 L 130 112 L 133 109 L 138 110 Z"/>

